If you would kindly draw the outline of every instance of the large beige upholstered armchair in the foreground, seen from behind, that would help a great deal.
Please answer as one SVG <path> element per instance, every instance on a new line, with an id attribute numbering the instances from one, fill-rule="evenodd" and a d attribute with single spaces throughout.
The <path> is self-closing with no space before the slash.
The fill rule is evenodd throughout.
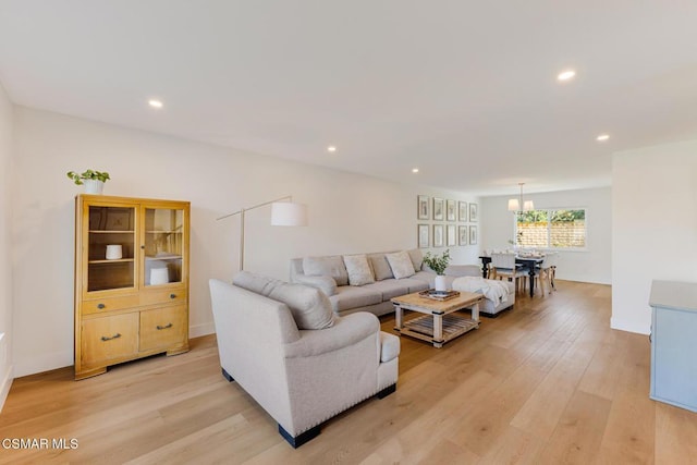
<path id="1" fill-rule="evenodd" d="M 337 317 L 329 307 L 331 327 L 298 329 L 298 302 L 319 291 L 249 276 L 244 281 L 252 290 L 210 280 L 220 365 L 229 381 L 273 417 L 291 445 L 315 438 L 323 421 L 351 406 L 394 392 L 400 340 L 381 332 L 375 315 Z M 262 294 L 294 296 L 289 307 Z"/>

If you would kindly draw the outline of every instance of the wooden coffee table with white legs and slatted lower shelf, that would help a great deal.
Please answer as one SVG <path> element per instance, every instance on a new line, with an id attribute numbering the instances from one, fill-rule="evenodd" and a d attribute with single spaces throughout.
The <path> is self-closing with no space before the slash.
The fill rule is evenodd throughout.
<path id="1" fill-rule="evenodd" d="M 479 302 L 482 298 L 484 295 L 472 292 L 461 292 L 458 296 L 448 301 L 436 301 L 419 295 L 418 292 L 394 297 L 394 330 L 400 334 L 431 342 L 433 347 L 440 348 L 445 342 L 479 328 Z M 466 307 L 472 307 L 472 318 L 455 314 Z M 425 315 L 404 322 L 404 310 Z"/>

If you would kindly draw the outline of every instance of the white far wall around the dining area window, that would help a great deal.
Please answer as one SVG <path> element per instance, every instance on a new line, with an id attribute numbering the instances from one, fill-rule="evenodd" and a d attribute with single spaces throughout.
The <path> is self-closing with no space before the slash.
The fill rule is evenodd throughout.
<path id="1" fill-rule="evenodd" d="M 509 248 L 515 223 L 508 211 L 511 196 L 482 197 L 481 248 Z M 535 208 L 585 208 L 585 250 L 560 252 L 557 277 L 563 280 L 610 284 L 612 279 L 612 189 L 610 187 L 526 194 Z"/>

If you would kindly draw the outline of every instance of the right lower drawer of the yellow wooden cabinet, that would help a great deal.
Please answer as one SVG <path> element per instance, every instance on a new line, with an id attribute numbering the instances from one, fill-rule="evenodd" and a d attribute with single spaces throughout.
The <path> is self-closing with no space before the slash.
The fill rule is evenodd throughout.
<path id="1" fill-rule="evenodd" d="M 184 343 L 187 326 L 185 305 L 140 311 L 140 351 Z"/>

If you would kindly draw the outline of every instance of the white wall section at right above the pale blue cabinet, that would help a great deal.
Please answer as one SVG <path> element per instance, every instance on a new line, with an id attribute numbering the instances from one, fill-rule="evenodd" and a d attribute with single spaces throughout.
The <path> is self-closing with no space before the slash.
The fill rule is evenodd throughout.
<path id="1" fill-rule="evenodd" d="M 652 280 L 697 282 L 697 140 L 612 159 L 612 328 L 649 333 Z"/>

